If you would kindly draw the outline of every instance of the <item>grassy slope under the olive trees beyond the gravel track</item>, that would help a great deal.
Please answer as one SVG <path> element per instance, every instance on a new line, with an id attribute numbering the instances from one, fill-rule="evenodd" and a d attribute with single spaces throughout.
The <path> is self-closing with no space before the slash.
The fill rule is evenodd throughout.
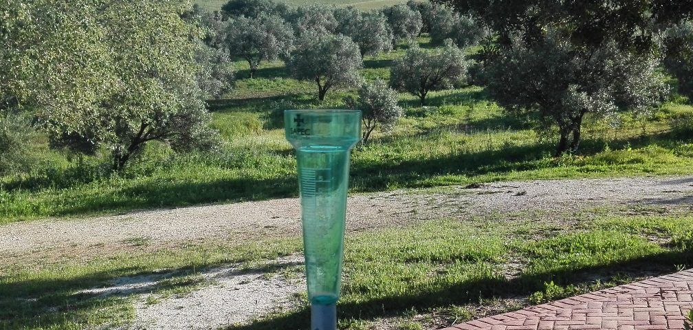
<path id="1" fill-rule="evenodd" d="M 426 40 L 421 40 L 426 42 Z M 366 78 L 387 79 L 403 49 L 367 58 Z M 247 64 L 238 62 L 238 77 Z M 148 207 L 260 200 L 297 195 L 295 158 L 283 137 L 281 110 L 343 107 L 349 90 L 315 102 L 311 83 L 288 77 L 281 62 L 265 63 L 216 102 L 213 125 L 226 143 L 214 155 L 175 155 L 151 145 L 122 175 L 104 174 L 99 159 L 70 162 L 37 145 L 32 173 L 0 178 L 0 223 L 80 216 Z M 693 108 L 668 103 L 644 126 L 624 114 L 611 128 L 588 118 L 581 155 L 550 157 L 556 137 L 538 135 L 510 118 L 480 87 L 430 94 L 430 107 L 401 94 L 406 109 L 393 132 L 376 133 L 353 153 L 351 191 L 432 187 L 494 180 L 693 173 Z"/>

